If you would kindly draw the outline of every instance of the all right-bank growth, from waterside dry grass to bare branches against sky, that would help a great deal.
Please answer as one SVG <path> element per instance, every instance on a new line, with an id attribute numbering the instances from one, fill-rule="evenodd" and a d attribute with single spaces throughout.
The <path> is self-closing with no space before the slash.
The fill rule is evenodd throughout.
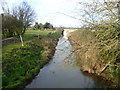
<path id="1" fill-rule="evenodd" d="M 120 87 L 120 1 L 94 0 L 79 4 L 79 20 L 84 26 L 69 38 L 78 63 L 83 71 L 105 77 L 114 83 L 113 87 Z"/>

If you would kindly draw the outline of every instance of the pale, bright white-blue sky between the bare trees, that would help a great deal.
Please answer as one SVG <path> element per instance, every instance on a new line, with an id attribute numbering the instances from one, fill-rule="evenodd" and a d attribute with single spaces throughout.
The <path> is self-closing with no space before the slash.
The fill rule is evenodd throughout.
<path id="1" fill-rule="evenodd" d="M 83 0 L 0 0 L 7 1 L 9 7 L 27 1 L 34 8 L 39 23 L 50 22 L 53 26 L 79 27 L 80 21 L 57 13 L 62 12 L 75 16 L 79 1 Z M 84 0 L 85 1 L 85 0 Z M 2 12 L 0 8 L 0 13 Z"/>

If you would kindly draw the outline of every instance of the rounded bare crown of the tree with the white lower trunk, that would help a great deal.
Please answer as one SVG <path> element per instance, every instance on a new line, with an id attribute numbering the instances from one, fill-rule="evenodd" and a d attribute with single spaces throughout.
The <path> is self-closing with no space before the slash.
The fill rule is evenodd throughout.
<path id="1" fill-rule="evenodd" d="M 22 2 L 19 6 L 15 6 L 12 10 L 12 14 L 18 20 L 23 22 L 23 30 L 21 35 L 26 31 L 26 28 L 30 23 L 35 20 L 35 11 L 28 5 L 27 2 Z"/>

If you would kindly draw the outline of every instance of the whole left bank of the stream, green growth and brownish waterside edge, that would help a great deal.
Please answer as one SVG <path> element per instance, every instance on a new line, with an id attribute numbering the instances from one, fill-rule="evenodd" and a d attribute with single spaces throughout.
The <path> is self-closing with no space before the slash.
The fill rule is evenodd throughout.
<path id="1" fill-rule="evenodd" d="M 37 33 L 37 31 L 28 31 L 26 34 L 29 36 L 33 33 Z M 16 47 L 13 44 L 4 46 L 3 88 L 23 88 L 28 84 L 38 74 L 39 69 L 52 58 L 60 36 L 59 32 L 42 31 L 39 38 L 34 37 L 27 40 L 23 47 L 21 43 L 15 43 Z"/>

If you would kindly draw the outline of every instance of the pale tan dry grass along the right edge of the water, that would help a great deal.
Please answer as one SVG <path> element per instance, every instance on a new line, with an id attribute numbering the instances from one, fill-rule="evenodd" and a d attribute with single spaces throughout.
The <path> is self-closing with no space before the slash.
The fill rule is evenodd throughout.
<path id="1" fill-rule="evenodd" d="M 96 63 L 99 61 L 99 50 L 96 45 L 97 39 L 94 32 L 89 30 L 78 30 L 71 34 L 70 41 L 74 44 L 78 63 L 83 71 L 89 73 L 99 72 L 101 65 Z"/>

